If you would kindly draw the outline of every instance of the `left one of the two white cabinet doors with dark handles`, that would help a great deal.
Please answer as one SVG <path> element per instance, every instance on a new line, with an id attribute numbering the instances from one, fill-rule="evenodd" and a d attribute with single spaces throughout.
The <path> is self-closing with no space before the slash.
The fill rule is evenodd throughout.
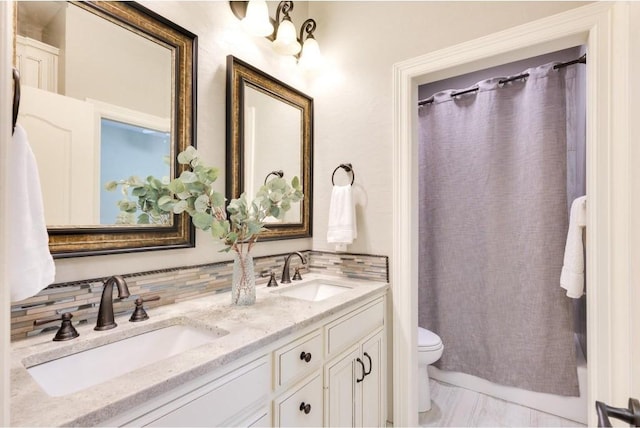
<path id="1" fill-rule="evenodd" d="M 364 373 L 356 359 L 360 355 L 359 346 L 353 347 L 342 357 L 329 363 L 326 368 L 327 422 L 330 427 L 355 425 L 356 379 Z"/>

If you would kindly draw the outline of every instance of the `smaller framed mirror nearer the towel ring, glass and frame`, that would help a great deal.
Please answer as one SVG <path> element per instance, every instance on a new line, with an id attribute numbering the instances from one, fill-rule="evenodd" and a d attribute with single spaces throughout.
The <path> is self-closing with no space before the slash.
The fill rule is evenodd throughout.
<path id="1" fill-rule="evenodd" d="M 226 194 L 249 200 L 271 176 L 297 176 L 304 199 L 267 223 L 260 240 L 311 236 L 313 99 L 267 73 L 227 57 Z"/>

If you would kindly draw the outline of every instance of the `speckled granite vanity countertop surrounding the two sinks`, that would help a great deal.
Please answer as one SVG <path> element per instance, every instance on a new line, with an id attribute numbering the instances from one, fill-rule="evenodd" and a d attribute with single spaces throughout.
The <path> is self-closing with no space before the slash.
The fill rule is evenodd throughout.
<path id="1" fill-rule="evenodd" d="M 257 286 L 257 299 L 252 306 L 232 306 L 229 292 L 225 292 L 148 309 L 150 319 L 144 322 L 128 322 L 129 315 L 116 317 L 118 326 L 112 330 L 94 331 L 93 325 L 79 326 L 80 337 L 66 342 L 53 342 L 55 332 L 15 342 L 11 349 L 11 426 L 97 425 L 388 287 L 384 282 L 318 274 L 305 275 L 303 282 L 313 279 L 339 280 L 351 289 L 309 302 L 272 292 L 296 283 L 277 289 L 262 285 Z M 212 343 L 62 397 L 49 396 L 26 369 L 174 324 L 229 333 Z"/>

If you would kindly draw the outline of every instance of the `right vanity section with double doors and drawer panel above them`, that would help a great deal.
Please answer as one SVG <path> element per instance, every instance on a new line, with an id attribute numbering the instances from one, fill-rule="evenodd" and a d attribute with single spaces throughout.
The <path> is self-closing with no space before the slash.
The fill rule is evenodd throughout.
<path id="1" fill-rule="evenodd" d="M 326 426 L 385 425 L 384 304 L 374 302 L 327 326 L 336 349 L 325 366 Z M 355 344 L 354 344 L 355 342 Z"/>

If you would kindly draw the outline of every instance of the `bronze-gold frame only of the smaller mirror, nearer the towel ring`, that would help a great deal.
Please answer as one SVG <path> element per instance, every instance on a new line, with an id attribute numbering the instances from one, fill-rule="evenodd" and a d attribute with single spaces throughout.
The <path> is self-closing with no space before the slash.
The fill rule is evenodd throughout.
<path id="1" fill-rule="evenodd" d="M 301 159 L 300 169 L 304 199 L 301 201 L 301 222 L 265 225 L 260 240 L 311 237 L 313 201 L 313 98 L 284 82 L 229 55 L 227 56 L 227 162 L 226 197 L 238 198 L 244 191 L 244 87 L 249 85 L 269 96 L 300 109 Z"/>

